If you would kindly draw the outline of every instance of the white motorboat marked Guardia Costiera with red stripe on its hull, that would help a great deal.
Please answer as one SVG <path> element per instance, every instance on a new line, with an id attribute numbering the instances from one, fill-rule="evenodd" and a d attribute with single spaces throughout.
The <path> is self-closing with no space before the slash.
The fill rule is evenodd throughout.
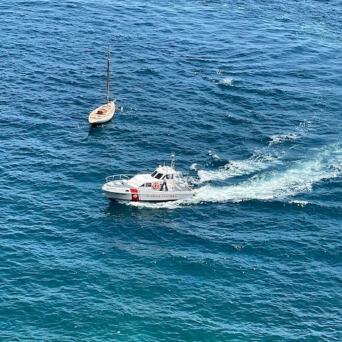
<path id="1" fill-rule="evenodd" d="M 166 202 L 192 198 L 195 190 L 176 177 L 174 155 L 171 166 L 159 166 L 151 174 L 114 174 L 106 177 L 102 187 L 109 200 Z"/>

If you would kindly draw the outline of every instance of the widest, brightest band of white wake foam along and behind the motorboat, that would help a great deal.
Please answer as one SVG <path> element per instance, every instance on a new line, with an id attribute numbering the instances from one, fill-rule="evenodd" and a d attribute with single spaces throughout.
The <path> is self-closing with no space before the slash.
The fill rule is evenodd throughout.
<path id="1" fill-rule="evenodd" d="M 198 189 L 198 194 L 189 200 L 163 203 L 130 202 L 129 205 L 175 209 L 203 202 L 241 202 L 285 198 L 293 202 L 291 197 L 310 192 L 314 184 L 341 176 L 342 149 L 340 146 L 330 146 L 317 150 L 315 159 L 297 161 L 285 170 L 257 174 L 247 181 L 225 187 L 204 185 Z"/>

